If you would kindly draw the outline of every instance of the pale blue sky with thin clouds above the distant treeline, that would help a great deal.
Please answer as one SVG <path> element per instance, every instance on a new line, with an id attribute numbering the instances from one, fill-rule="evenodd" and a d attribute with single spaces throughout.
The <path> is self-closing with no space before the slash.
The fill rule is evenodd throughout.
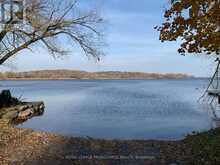
<path id="1" fill-rule="evenodd" d="M 153 28 L 163 21 L 168 0 L 78 0 L 81 5 L 98 8 L 106 20 L 106 56 L 97 63 L 79 49 L 61 59 L 53 59 L 43 49 L 23 51 L 3 70 L 73 69 L 86 71 L 141 71 L 188 73 L 207 76 L 213 59 L 205 56 L 181 56 L 177 43 L 161 43 Z M 9 66 L 9 67 L 8 67 Z"/>

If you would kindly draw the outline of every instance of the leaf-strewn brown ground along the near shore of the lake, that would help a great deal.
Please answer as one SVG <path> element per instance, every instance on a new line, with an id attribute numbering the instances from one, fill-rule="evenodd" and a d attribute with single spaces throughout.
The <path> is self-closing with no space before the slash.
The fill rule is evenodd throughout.
<path id="1" fill-rule="evenodd" d="M 220 130 L 182 141 L 97 140 L 64 137 L 0 122 L 0 164 L 220 164 Z M 119 157 L 120 156 L 120 157 Z"/>

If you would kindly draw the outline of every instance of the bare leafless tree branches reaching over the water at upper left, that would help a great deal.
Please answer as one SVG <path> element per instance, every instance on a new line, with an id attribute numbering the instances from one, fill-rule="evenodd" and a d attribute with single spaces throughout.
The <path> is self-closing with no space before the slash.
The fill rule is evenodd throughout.
<path id="1" fill-rule="evenodd" d="M 73 0 L 25 0 L 25 16 L 16 11 L 0 27 L 0 64 L 36 44 L 43 44 L 54 57 L 65 55 L 68 51 L 59 43 L 65 39 L 99 60 L 103 19 L 96 11 L 80 11 L 77 5 Z"/>

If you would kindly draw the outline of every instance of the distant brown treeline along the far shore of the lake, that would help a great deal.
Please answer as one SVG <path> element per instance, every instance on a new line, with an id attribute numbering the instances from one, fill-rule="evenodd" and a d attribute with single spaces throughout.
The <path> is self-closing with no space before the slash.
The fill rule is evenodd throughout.
<path id="1" fill-rule="evenodd" d="M 41 70 L 29 72 L 2 72 L 1 80 L 8 79 L 181 79 L 190 78 L 186 74 L 159 74 L 142 72 L 85 72 L 74 70 Z"/>

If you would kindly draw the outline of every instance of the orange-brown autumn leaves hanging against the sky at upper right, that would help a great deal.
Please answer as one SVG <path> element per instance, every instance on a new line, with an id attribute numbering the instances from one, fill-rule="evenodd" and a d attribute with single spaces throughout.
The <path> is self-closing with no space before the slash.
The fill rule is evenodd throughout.
<path id="1" fill-rule="evenodd" d="M 160 40 L 181 39 L 178 52 L 220 54 L 220 0 L 170 0 Z"/>

